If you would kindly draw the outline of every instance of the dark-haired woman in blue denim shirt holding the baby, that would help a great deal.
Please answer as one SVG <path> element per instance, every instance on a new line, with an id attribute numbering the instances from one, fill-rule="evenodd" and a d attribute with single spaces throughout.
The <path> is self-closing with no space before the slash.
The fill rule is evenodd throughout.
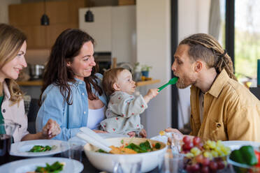
<path id="1" fill-rule="evenodd" d="M 59 35 L 43 77 L 37 131 L 51 118 L 62 128 L 55 137 L 59 140 L 75 136 L 83 126 L 104 133 L 99 123 L 105 118 L 107 98 L 93 54 L 94 39 L 86 32 L 66 29 Z"/>

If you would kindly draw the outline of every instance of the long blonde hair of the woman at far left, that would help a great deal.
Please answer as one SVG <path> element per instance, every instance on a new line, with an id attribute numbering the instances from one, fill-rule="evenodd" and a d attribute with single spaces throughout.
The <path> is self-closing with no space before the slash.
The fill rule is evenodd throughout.
<path id="1" fill-rule="evenodd" d="M 24 41 L 27 40 L 24 33 L 8 24 L 0 24 L 0 68 L 12 61 L 19 52 Z M 13 79 L 5 79 L 10 92 L 10 100 L 15 104 L 23 98 L 20 87 Z M 3 87 L 3 84 L 1 84 Z M 1 89 L 0 92 L 3 90 Z"/>

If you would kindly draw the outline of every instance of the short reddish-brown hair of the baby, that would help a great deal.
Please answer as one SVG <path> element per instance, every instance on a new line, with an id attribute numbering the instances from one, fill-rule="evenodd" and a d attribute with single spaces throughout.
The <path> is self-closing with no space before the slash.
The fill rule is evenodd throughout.
<path id="1" fill-rule="evenodd" d="M 103 90 L 106 92 L 106 95 L 110 96 L 115 89 L 113 84 L 117 82 L 117 76 L 123 71 L 125 68 L 110 68 L 103 75 L 102 86 Z"/>

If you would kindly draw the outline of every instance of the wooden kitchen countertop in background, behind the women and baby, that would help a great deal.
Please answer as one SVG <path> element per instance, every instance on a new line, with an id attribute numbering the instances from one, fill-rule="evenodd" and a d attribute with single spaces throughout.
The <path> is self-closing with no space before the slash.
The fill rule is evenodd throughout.
<path id="1" fill-rule="evenodd" d="M 139 81 L 136 82 L 136 87 L 141 87 L 149 84 L 156 84 L 159 83 L 160 80 L 146 80 L 146 81 Z M 19 81 L 17 82 L 20 86 L 42 86 L 42 80 L 29 80 L 29 81 Z"/>

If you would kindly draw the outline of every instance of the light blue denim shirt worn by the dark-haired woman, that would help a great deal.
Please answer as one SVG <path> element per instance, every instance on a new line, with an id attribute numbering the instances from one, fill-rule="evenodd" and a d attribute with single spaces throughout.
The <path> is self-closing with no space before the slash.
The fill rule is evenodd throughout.
<path id="1" fill-rule="evenodd" d="M 102 75 L 96 73 L 97 81 L 101 87 Z M 41 107 L 36 118 L 36 131 L 41 132 L 48 119 L 57 121 L 61 133 L 54 137 L 55 140 L 68 140 L 79 132 L 79 128 L 87 126 L 88 97 L 85 82 L 76 79 L 76 82 L 68 82 L 71 86 L 71 99 L 73 104 L 68 105 L 59 86 L 50 84 L 43 92 Z M 99 96 L 92 87 L 92 92 Z M 103 92 L 99 99 L 107 106 L 106 94 Z"/>

